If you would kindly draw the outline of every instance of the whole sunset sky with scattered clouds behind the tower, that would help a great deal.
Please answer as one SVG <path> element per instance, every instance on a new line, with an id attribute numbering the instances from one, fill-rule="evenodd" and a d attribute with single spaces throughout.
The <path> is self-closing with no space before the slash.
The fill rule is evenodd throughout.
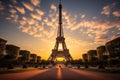
<path id="1" fill-rule="evenodd" d="M 54 49 L 59 0 L 0 0 L 0 38 L 47 59 Z M 73 59 L 120 37 L 120 0 L 62 0 Z"/>

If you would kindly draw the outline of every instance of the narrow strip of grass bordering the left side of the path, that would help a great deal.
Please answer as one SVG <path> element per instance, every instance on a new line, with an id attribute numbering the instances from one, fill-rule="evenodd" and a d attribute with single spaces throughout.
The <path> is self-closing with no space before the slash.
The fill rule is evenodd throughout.
<path id="1" fill-rule="evenodd" d="M 6 69 L 6 70 L 1 70 L 0 74 L 20 73 L 20 72 L 33 71 L 33 70 L 38 70 L 38 69 L 37 68 Z"/>

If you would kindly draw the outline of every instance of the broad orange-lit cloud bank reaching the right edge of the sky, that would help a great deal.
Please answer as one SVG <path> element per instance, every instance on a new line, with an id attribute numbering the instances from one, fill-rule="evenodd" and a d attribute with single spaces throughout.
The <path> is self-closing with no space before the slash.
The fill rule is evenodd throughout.
<path id="1" fill-rule="evenodd" d="M 111 33 L 110 29 L 113 27 L 116 29 L 112 29 L 114 33 Z M 87 35 L 88 39 L 92 39 L 95 44 L 104 44 L 120 32 L 120 20 L 83 20 L 70 27 L 70 30 L 80 30 L 81 36 Z"/>

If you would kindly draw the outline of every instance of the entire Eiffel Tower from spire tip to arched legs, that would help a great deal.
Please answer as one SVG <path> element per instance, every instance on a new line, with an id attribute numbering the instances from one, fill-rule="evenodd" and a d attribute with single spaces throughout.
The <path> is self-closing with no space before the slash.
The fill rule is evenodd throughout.
<path id="1" fill-rule="evenodd" d="M 59 49 L 60 45 L 62 49 Z M 52 54 L 50 55 L 48 60 L 51 62 L 55 62 L 56 58 L 59 58 L 59 57 L 64 58 L 65 62 L 70 62 L 71 60 L 73 60 L 69 53 L 69 49 L 67 49 L 64 34 L 63 34 L 61 0 L 59 3 L 59 27 L 58 27 L 58 32 L 57 32 L 56 43 L 55 43 L 54 49 L 52 49 Z"/>

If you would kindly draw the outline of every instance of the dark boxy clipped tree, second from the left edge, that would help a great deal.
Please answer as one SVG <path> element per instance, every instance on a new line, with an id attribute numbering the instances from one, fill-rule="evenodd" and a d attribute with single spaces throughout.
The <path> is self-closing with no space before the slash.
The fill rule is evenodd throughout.
<path id="1" fill-rule="evenodd" d="M 12 59 L 18 59 L 20 48 L 15 45 L 6 45 L 6 55 L 9 55 Z"/>

